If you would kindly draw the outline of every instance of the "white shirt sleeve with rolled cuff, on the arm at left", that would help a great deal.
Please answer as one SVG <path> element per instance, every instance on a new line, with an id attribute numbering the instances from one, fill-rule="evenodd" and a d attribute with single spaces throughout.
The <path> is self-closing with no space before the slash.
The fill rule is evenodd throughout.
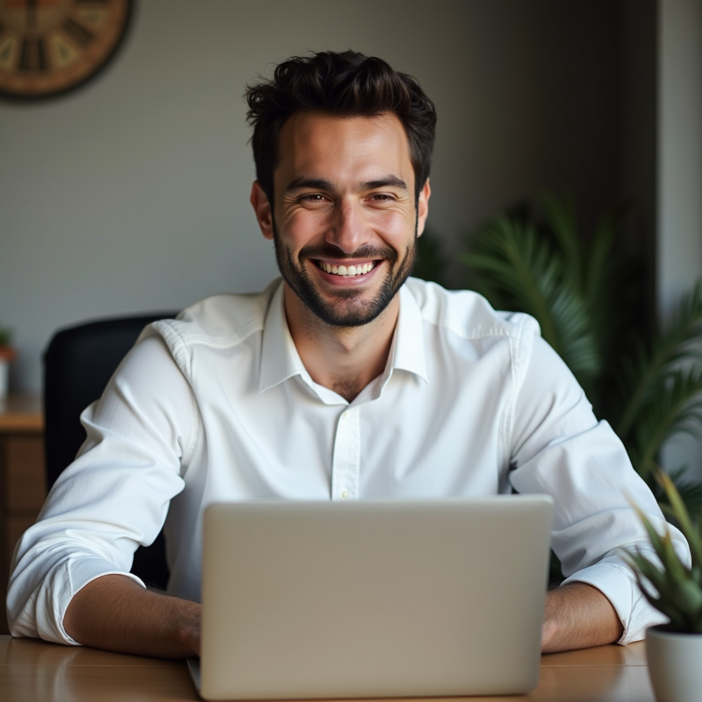
<path id="1" fill-rule="evenodd" d="M 7 614 L 14 636 L 75 644 L 63 628 L 73 595 L 129 574 L 159 534 L 196 439 L 197 405 L 164 341 L 148 332 L 102 398 L 81 415 L 86 442 L 15 547 Z"/>

